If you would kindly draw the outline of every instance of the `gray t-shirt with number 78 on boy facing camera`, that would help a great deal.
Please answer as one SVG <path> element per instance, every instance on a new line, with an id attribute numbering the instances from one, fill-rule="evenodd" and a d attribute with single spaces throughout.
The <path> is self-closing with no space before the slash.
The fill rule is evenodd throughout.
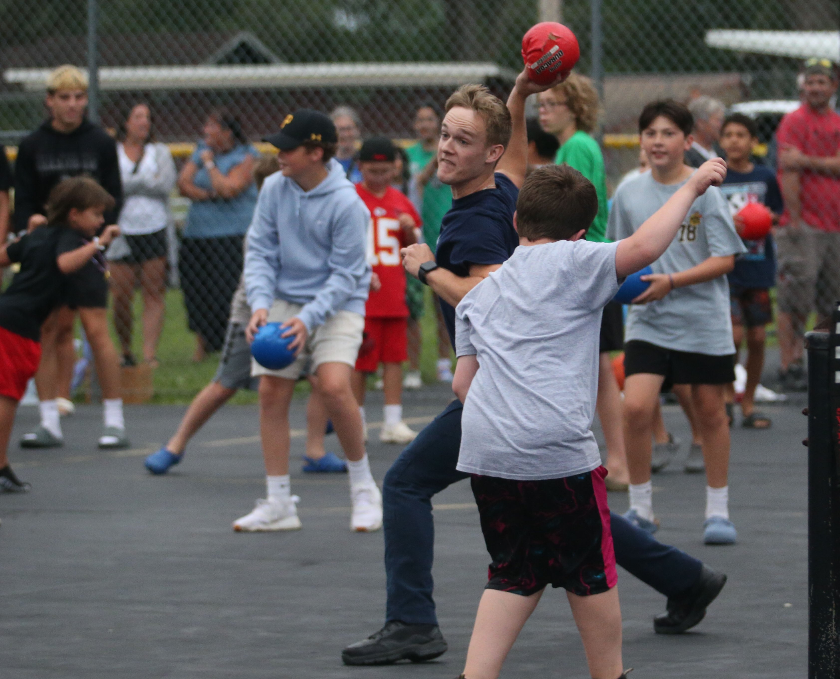
<path id="1" fill-rule="evenodd" d="M 606 233 L 620 240 L 635 233 L 684 184 L 660 184 L 650 172 L 623 183 L 612 197 Z M 654 273 L 677 273 L 709 257 L 746 252 L 735 231 L 727 199 L 717 187 L 698 197 L 668 250 L 652 265 Z M 676 351 L 707 355 L 735 353 L 726 276 L 679 287 L 657 302 L 627 313 L 624 339 L 641 339 Z"/>

